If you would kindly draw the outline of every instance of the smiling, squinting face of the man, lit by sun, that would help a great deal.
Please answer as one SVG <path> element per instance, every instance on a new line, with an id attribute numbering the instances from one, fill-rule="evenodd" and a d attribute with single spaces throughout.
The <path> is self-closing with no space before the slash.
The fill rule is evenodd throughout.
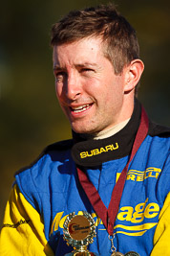
<path id="1" fill-rule="evenodd" d="M 124 72 L 116 76 L 99 38 L 54 46 L 56 96 L 72 128 L 96 133 L 123 121 Z"/>

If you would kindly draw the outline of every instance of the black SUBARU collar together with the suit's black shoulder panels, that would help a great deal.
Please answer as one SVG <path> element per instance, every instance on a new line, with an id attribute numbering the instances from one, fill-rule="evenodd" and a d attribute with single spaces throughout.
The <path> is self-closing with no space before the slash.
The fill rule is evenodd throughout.
<path id="1" fill-rule="evenodd" d="M 89 167 L 101 165 L 103 162 L 129 155 L 132 151 L 138 131 L 140 114 L 141 105 L 136 99 L 134 112 L 130 121 L 114 136 L 102 140 L 87 141 L 82 140 L 81 136 L 73 132 L 74 139 L 60 141 L 49 145 L 42 151 L 39 157 L 32 162 L 32 165 L 46 153 L 50 153 L 53 160 L 57 160 L 58 156 L 55 153 L 56 151 L 71 150 L 74 162 L 77 165 Z M 161 127 L 150 121 L 148 133 L 150 136 L 170 137 L 170 128 Z M 19 170 L 17 174 L 31 168 L 32 165 Z"/>

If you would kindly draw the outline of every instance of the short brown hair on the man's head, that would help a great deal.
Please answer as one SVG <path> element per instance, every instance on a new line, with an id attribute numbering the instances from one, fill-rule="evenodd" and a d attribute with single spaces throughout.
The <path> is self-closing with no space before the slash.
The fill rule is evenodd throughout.
<path id="1" fill-rule="evenodd" d="M 69 12 L 53 25 L 51 45 L 71 43 L 88 36 L 102 39 L 104 56 L 113 63 L 116 75 L 133 59 L 139 58 L 136 31 L 113 4 Z"/>

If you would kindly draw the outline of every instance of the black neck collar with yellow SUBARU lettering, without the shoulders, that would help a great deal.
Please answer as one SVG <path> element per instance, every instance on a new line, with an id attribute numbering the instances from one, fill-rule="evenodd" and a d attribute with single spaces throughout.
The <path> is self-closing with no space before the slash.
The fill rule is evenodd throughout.
<path id="1" fill-rule="evenodd" d="M 133 115 L 128 124 L 115 135 L 101 140 L 83 140 L 76 133 L 72 156 L 81 166 L 96 166 L 103 162 L 128 155 L 133 147 L 138 131 L 141 105 L 136 100 Z"/>

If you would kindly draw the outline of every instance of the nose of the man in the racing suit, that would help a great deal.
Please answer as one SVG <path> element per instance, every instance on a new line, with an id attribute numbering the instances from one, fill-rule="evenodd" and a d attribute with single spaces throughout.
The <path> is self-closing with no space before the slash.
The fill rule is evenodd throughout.
<path id="1" fill-rule="evenodd" d="M 81 94 L 81 84 L 77 73 L 76 71 L 69 72 L 65 84 L 65 94 L 70 100 L 76 100 Z"/>

